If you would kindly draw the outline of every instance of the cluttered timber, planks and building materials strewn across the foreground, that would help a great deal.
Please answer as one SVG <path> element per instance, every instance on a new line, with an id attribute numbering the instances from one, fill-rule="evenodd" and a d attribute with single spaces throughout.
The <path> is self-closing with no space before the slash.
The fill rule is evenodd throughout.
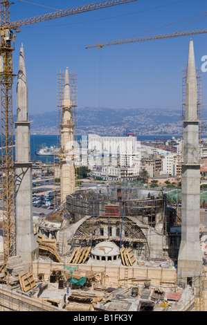
<path id="1" fill-rule="evenodd" d="M 18 266 L 18 262 L 20 263 Z M 42 263 L 48 270 L 42 272 Z M 84 270 L 80 264 L 61 265 L 38 261 L 34 272 L 20 270 L 21 259 L 16 257 L 8 263 L 10 268 L 10 295 L 21 294 L 19 299 L 35 299 L 31 303 L 33 310 L 37 301 L 42 308 L 55 308 L 55 310 L 78 312 L 111 312 L 122 311 L 188 311 L 201 308 L 200 291 L 190 285 L 177 285 L 173 281 L 156 285 L 153 279 L 127 279 L 126 281 L 108 281 L 104 272 L 96 272 L 92 268 Z M 164 264 L 156 262 L 148 263 L 148 268 L 163 272 Z M 146 266 L 139 266 L 145 272 Z M 132 270 L 132 267 L 129 267 Z M 134 268 L 133 268 L 134 269 Z M 19 279 L 15 278 L 19 270 Z M 39 270 L 37 275 L 36 271 Z M 98 268 L 96 268 L 98 270 Z M 134 271 L 134 270 L 133 270 Z M 126 272 L 126 270 L 125 270 Z M 128 274 L 129 278 L 129 274 Z M 16 280 L 16 281 L 15 281 Z M 118 280 L 118 278 L 117 278 Z M 1 289 L 4 285 L 1 285 Z M 3 289 L 2 289 L 3 290 Z M 5 290 L 5 289 L 4 289 Z M 21 297 L 21 298 L 20 298 Z M 19 306 L 21 306 L 19 301 Z M 2 309 L 1 309 L 2 310 Z M 45 310 L 45 309 L 43 309 Z M 50 309 L 49 309 L 50 310 Z"/>

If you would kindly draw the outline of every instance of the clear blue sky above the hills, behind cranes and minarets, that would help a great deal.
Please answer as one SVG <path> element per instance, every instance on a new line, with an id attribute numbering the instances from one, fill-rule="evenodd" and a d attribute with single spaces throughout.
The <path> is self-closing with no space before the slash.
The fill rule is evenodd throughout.
<path id="1" fill-rule="evenodd" d="M 13 2 L 11 21 L 96 1 L 30 1 L 41 6 L 17 0 Z M 78 107 L 181 110 L 182 68 L 186 68 L 188 44 L 192 38 L 196 65 L 200 69 L 201 57 L 207 55 L 206 34 L 102 49 L 85 49 L 85 46 L 203 29 L 207 17 L 199 14 L 206 10 L 204 0 L 138 0 L 22 27 L 15 41 L 13 71 L 18 71 L 19 49 L 23 43 L 30 115 L 57 109 L 57 71 L 64 71 L 66 66 L 77 74 Z M 202 109 L 206 110 L 207 72 L 201 73 L 201 80 Z M 17 77 L 13 90 L 14 111 L 16 84 Z"/>

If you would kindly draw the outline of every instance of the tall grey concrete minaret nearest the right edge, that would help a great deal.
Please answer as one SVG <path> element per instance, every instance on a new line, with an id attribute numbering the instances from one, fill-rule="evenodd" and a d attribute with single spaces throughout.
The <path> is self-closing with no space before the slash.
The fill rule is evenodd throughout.
<path id="1" fill-rule="evenodd" d="M 186 116 L 183 121 L 181 245 L 178 257 L 180 281 L 194 281 L 202 272 L 199 243 L 200 165 L 197 75 L 193 42 L 190 40 L 186 73 Z"/>

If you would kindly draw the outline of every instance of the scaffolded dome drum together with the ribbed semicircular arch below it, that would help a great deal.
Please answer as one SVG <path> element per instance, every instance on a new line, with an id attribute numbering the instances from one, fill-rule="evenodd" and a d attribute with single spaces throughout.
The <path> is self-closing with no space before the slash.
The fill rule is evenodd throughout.
<path id="1" fill-rule="evenodd" d="M 120 198 L 119 189 L 80 190 L 67 196 L 66 211 L 71 223 L 84 218 L 68 242 L 71 250 L 77 246 L 92 247 L 107 240 L 121 247 L 131 247 L 133 251 L 136 250 L 138 257 L 149 257 L 146 236 L 150 232 L 144 234 L 137 221 L 149 229 L 155 228 L 156 223 L 163 219 L 163 197 L 137 198 L 140 187 L 123 187 L 125 195 Z"/>

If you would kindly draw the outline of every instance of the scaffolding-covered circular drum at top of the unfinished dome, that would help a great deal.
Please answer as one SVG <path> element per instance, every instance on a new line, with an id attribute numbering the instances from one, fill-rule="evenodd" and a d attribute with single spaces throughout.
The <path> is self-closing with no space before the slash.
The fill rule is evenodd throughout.
<path id="1" fill-rule="evenodd" d="M 66 198 L 66 210 L 71 214 L 82 214 L 82 216 L 119 216 L 123 215 L 123 206 L 128 216 L 155 216 L 163 210 L 163 197 L 135 198 L 141 189 L 127 188 L 120 192 L 119 188 L 79 190 Z M 120 194 L 123 196 L 120 197 Z M 135 195 L 136 193 L 136 195 Z M 133 195 L 132 195 L 133 194 Z M 133 196 L 133 198 L 132 198 Z M 127 197 L 127 198 L 126 198 Z"/>

